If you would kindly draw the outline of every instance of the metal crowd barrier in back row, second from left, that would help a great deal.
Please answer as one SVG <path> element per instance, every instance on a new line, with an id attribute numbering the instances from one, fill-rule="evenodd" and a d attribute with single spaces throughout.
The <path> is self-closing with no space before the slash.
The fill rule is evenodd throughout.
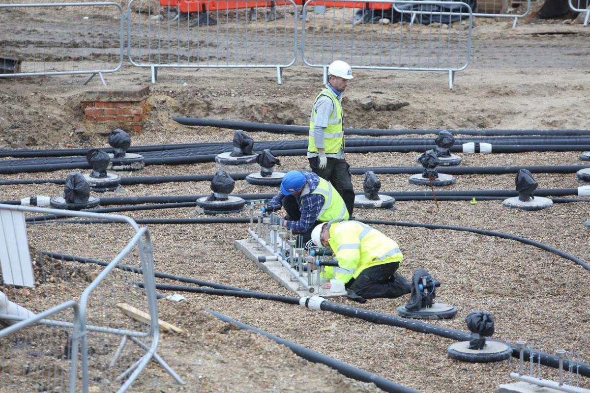
<path id="1" fill-rule="evenodd" d="M 127 52 L 137 67 L 283 68 L 297 56 L 297 7 L 293 0 L 143 0 L 127 6 Z M 132 12 L 146 9 L 147 15 Z M 220 71 L 223 72 L 223 71 Z"/>

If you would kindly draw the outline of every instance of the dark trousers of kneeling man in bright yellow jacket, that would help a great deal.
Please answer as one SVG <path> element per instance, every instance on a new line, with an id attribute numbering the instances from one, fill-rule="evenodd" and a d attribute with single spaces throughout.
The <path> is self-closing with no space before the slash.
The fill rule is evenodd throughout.
<path id="1" fill-rule="evenodd" d="M 411 287 L 404 276 L 395 274 L 398 267 L 399 262 L 368 267 L 355 280 L 347 282 L 346 288 L 365 299 L 393 299 L 406 295 L 411 292 Z"/>

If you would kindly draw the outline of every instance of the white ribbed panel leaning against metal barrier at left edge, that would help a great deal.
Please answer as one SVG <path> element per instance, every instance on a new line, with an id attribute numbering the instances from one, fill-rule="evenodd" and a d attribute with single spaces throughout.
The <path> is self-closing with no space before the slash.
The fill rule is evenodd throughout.
<path id="1" fill-rule="evenodd" d="M 0 209 L 0 269 L 5 284 L 35 286 L 22 212 Z"/>

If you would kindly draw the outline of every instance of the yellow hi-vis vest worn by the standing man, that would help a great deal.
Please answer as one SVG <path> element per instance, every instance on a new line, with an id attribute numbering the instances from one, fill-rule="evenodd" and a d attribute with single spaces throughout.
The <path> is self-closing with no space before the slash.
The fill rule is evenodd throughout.
<path id="1" fill-rule="evenodd" d="M 322 90 L 320 94 L 317 95 L 316 101 L 314 101 L 312 117 L 309 123 L 309 144 L 307 145 L 307 151 L 310 153 L 317 153 L 316 141 L 313 138 L 313 124 L 316 121 L 317 115 L 315 103 L 322 95 L 330 98 L 330 100 L 332 100 L 332 104 L 334 105 L 334 110 L 332 113 L 330 113 L 330 118 L 328 119 L 328 126 L 324 130 L 324 150 L 326 150 L 326 154 L 336 154 L 340 151 L 340 147 L 344 148 L 344 133 L 342 132 L 342 106 L 340 106 L 340 102 L 338 101 L 336 94 L 334 94 L 329 88 L 324 88 L 324 90 Z"/>

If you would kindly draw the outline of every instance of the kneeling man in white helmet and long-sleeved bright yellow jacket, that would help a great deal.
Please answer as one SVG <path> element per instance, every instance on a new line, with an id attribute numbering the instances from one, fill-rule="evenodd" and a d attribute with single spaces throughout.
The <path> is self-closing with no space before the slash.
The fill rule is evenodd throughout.
<path id="1" fill-rule="evenodd" d="M 395 274 L 404 259 L 398 243 L 378 230 L 358 221 L 329 222 L 313 229 L 312 240 L 332 249 L 338 267 L 326 266 L 326 279 L 344 283 L 349 298 L 364 302 L 411 292 L 408 280 Z"/>

